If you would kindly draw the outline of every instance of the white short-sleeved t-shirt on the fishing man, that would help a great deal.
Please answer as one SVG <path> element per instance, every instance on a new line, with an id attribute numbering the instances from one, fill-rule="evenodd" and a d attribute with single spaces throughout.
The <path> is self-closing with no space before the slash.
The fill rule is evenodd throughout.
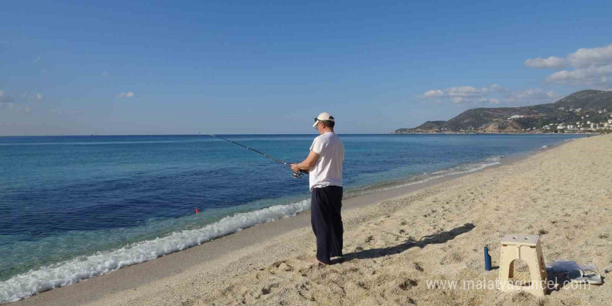
<path id="1" fill-rule="evenodd" d="M 342 186 L 344 145 L 338 135 L 327 132 L 317 136 L 312 141 L 310 150 L 319 154 L 319 159 L 316 160 L 308 175 L 310 191 L 312 188 Z"/>

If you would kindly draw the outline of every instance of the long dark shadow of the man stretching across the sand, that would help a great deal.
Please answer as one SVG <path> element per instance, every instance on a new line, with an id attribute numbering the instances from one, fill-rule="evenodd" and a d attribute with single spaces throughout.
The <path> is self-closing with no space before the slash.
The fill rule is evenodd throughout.
<path id="1" fill-rule="evenodd" d="M 437 244 L 437 243 L 445 243 L 446 241 L 455 239 L 456 236 L 460 234 L 467 233 L 474 229 L 476 225 L 472 223 L 465 223 L 460 227 L 453 228 L 453 230 L 449 230 L 447 232 L 439 232 L 437 234 L 432 234 L 428 236 L 424 236 L 419 239 L 419 241 L 414 241 L 412 239 L 408 239 L 401 244 L 390 246 L 387 248 L 374 248 L 369 250 L 360 250 L 357 252 L 352 252 L 345 254 L 342 261 L 351 260 L 351 259 L 371 259 L 377 257 L 383 257 L 387 255 L 394 255 L 401 253 L 405 250 L 413 248 L 415 246 L 419 248 L 425 248 L 425 245 L 428 244 Z"/>

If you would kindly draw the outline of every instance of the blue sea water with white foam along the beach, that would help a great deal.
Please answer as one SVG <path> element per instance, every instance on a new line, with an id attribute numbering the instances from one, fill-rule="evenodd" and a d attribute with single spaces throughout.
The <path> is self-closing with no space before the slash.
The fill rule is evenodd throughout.
<path id="1" fill-rule="evenodd" d="M 315 135 L 228 135 L 302 161 Z M 576 135 L 341 135 L 345 197 Z M 0 137 L 0 303 L 309 209 L 307 176 L 210 136 Z M 200 210 L 195 214 L 196 207 Z"/>

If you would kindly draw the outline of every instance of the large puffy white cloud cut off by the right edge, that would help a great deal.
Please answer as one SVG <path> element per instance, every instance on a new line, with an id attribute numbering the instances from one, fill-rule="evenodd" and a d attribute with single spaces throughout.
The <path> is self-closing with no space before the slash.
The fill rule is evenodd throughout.
<path id="1" fill-rule="evenodd" d="M 545 81 L 559 84 L 591 86 L 593 88 L 609 88 L 612 85 L 612 45 L 606 47 L 581 48 L 568 54 L 565 59 L 556 58 L 549 61 L 549 58 L 533 58 L 525 61 L 529 67 L 545 65 L 544 62 L 552 63 L 563 60 L 569 63 L 573 70 L 561 70 L 549 74 Z M 533 61 L 532 61 L 533 60 Z M 542 60 L 542 61 L 536 61 Z M 533 65 L 528 65 L 529 63 Z M 549 65 L 553 67 L 553 65 Z M 559 67 L 557 67 L 559 68 Z"/>

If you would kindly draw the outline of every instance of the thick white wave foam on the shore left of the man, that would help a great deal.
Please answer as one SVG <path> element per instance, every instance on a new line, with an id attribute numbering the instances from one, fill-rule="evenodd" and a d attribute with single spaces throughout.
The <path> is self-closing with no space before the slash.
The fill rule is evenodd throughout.
<path id="1" fill-rule="evenodd" d="M 90 277 L 115 271 L 124 266 L 131 266 L 171 252 L 184 250 L 258 223 L 293 216 L 309 208 L 310 200 L 303 200 L 235 214 L 198 230 L 174 232 L 168 236 L 141 241 L 118 250 L 98 252 L 88 257 L 79 257 L 45 266 L 36 271 L 15 275 L 9 280 L 0 282 L 0 303 L 13 302 L 35 293 L 74 284 Z"/>

